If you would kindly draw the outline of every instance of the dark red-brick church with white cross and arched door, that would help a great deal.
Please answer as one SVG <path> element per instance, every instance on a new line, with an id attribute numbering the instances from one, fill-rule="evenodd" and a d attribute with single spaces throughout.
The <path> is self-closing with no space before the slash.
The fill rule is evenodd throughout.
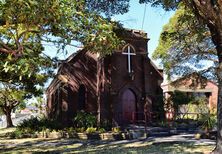
<path id="1" fill-rule="evenodd" d="M 124 40 L 112 55 L 82 49 L 62 62 L 46 91 L 49 118 L 69 124 L 83 110 L 121 126 L 143 119 L 147 98 L 158 112 L 163 76 L 148 58 L 147 34 L 126 30 Z"/>

